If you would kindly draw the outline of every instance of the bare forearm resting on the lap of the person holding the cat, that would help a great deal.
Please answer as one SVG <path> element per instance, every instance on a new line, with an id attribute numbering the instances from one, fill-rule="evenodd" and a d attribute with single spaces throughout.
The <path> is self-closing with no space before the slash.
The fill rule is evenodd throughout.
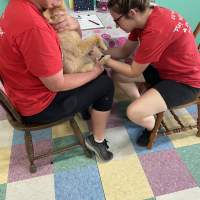
<path id="1" fill-rule="evenodd" d="M 58 92 L 78 88 L 95 79 L 102 72 L 101 66 L 96 66 L 92 71 L 85 73 L 63 74 L 63 70 L 60 70 L 52 76 L 40 77 L 40 80 L 49 90 Z"/>

